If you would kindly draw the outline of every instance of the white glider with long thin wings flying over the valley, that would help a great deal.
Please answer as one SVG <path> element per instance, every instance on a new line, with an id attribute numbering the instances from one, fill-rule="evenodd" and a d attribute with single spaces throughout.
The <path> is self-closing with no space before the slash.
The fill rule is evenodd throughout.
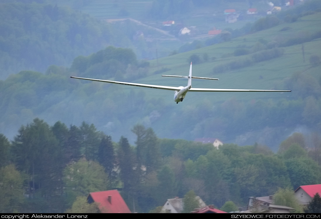
<path id="1" fill-rule="evenodd" d="M 163 90 L 174 90 L 174 101 L 178 104 L 178 102 L 182 102 L 185 98 L 188 91 L 197 91 L 197 92 L 291 92 L 291 90 L 243 90 L 243 89 L 213 89 L 213 88 L 192 88 L 192 79 L 207 79 L 207 80 L 219 80 L 217 78 L 203 78 L 203 77 L 194 77 L 192 76 L 192 63 L 189 67 L 189 75 L 188 76 L 177 76 L 177 75 L 162 75 L 163 77 L 175 77 L 175 78 L 188 78 L 188 84 L 186 87 L 170 87 L 170 86 L 160 86 L 160 85 L 150 85 L 150 84 L 137 84 L 137 83 L 129 83 L 129 82 L 120 82 L 120 81 L 112 81 L 112 80 L 99 80 L 99 79 L 91 79 L 91 78 L 78 78 L 83 80 L 93 80 L 100 81 L 106 83 L 113 84 L 124 84 L 130 86 L 144 87 L 144 88 L 156 88 Z"/>

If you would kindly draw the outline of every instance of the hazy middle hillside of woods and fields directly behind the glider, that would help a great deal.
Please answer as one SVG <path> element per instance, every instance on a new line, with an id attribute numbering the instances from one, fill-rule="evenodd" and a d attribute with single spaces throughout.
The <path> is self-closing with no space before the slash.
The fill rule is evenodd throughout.
<path id="1" fill-rule="evenodd" d="M 318 131 L 320 127 L 320 26 L 321 13 L 313 13 L 295 22 L 283 22 L 149 64 L 134 59 L 123 62 L 122 55 L 111 56 L 106 49 L 77 57 L 71 69 L 51 66 L 46 75 L 20 72 L 0 81 L 0 132 L 12 138 L 21 124 L 39 117 L 49 123 L 58 120 L 75 125 L 82 121 L 94 123 L 114 139 L 126 135 L 133 142 L 130 130 L 143 123 L 161 138 L 213 137 L 239 145 L 258 142 L 275 149 L 284 136 L 297 128 Z M 280 53 L 273 55 L 274 50 Z M 122 49 L 110 51 L 132 54 Z M 186 75 L 195 56 L 199 63 L 193 62 L 193 75 L 220 80 L 193 80 L 193 87 L 292 92 L 191 92 L 184 102 L 175 104 L 173 92 L 169 91 L 69 79 L 71 75 L 100 79 L 117 79 L 120 75 L 138 83 L 181 86 L 187 81 L 162 78 L 161 74 Z M 109 71 L 115 66 L 120 70 L 116 75 Z M 218 67 L 226 69 L 220 72 Z"/>

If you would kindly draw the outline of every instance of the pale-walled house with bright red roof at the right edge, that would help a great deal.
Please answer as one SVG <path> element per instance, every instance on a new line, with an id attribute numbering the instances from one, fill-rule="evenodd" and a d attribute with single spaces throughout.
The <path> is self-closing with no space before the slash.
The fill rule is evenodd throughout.
<path id="1" fill-rule="evenodd" d="M 301 205 L 308 205 L 317 193 L 321 195 L 321 184 L 299 186 L 299 188 L 294 191 L 294 196 Z"/>

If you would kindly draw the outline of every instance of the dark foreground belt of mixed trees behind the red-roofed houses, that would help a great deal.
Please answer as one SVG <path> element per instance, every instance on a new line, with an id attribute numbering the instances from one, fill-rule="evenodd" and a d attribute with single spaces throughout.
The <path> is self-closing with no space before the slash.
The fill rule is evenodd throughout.
<path id="1" fill-rule="evenodd" d="M 22 125 L 12 142 L 0 134 L 0 213 L 94 213 L 97 209 L 86 203 L 89 192 L 111 189 L 120 190 L 137 212 L 147 213 L 190 190 L 217 208 L 226 201 L 242 207 L 250 196 L 273 195 L 280 188 L 291 193 L 321 181 L 318 135 L 311 138 L 314 147 L 307 148 L 311 139 L 295 133 L 274 154 L 258 144 L 216 149 L 159 139 L 143 125 L 131 128 L 135 146 L 85 122 L 50 126 L 36 118 Z"/>

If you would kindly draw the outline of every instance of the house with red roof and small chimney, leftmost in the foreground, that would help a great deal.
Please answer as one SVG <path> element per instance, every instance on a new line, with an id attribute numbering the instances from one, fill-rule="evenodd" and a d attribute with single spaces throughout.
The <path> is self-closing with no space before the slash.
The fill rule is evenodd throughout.
<path id="1" fill-rule="evenodd" d="M 91 192 L 87 201 L 97 203 L 101 213 L 131 213 L 118 190 Z"/>

